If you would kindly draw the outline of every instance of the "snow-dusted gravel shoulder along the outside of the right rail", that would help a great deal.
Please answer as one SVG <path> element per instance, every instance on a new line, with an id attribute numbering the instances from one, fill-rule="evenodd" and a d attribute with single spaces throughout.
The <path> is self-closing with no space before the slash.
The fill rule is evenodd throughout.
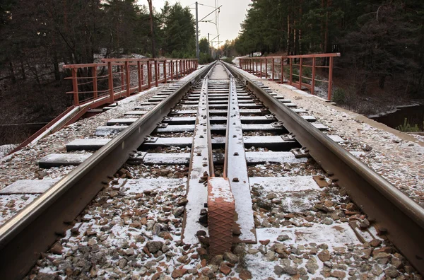
<path id="1" fill-rule="evenodd" d="M 295 100 L 329 127 L 329 134 L 341 136 L 345 140 L 341 146 L 348 151 L 363 151 L 363 155 L 357 155 L 360 161 L 424 206 L 423 142 L 313 95 L 300 95 L 269 81 L 263 83 L 278 95 Z"/>

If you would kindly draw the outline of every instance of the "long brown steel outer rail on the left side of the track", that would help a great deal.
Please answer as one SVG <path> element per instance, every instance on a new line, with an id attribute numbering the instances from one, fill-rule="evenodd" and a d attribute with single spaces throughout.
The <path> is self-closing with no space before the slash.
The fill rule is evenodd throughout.
<path id="1" fill-rule="evenodd" d="M 40 254 L 66 233 L 76 216 L 105 186 L 102 182 L 107 182 L 108 176 L 139 148 L 144 137 L 153 132 L 158 122 L 189 91 L 192 81 L 204 76 L 212 66 L 201 69 L 162 103 L 1 226 L 0 275 L 3 279 L 21 279 L 30 271 Z"/>

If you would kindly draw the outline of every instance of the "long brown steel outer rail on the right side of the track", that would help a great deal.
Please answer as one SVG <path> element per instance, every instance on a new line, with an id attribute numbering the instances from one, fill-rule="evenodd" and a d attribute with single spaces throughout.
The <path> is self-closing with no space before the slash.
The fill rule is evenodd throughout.
<path id="1" fill-rule="evenodd" d="M 332 141 L 312 124 L 266 93 L 240 69 L 229 64 L 235 76 L 245 81 L 251 91 L 283 121 L 295 139 L 344 187 L 380 232 L 398 248 L 420 274 L 424 274 L 424 209 L 382 176 Z"/>

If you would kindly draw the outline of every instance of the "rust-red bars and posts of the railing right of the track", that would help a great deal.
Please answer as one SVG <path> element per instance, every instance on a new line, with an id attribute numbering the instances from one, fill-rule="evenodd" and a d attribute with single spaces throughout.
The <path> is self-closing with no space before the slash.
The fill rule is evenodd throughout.
<path id="1" fill-rule="evenodd" d="M 275 62 L 274 59 L 280 59 L 281 61 L 281 69 L 280 69 L 280 82 L 284 83 L 284 66 L 288 66 L 288 69 L 290 71 L 289 77 L 288 77 L 288 83 L 290 86 L 295 86 L 296 88 L 299 88 L 300 90 L 307 88 L 309 89 L 311 94 L 315 93 L 315 81 L 320 81 L 323 83 L 328 83 L 328 93 L 327 93 L 327 99 L 331 100 L 332 96 L 332 88 L 333 88 L 333 66 L 334 66 L 334 57 L 340 57 L 340 53 L 333 53 L 333 54 L 303 54 L 303 55 L 288 55 L 288 56 L 280 56 L 280 57 L 243 57 L 240 59 L 240 68 L 248 71 L 254 75 L 259 76 L 259 78 L 262 78 L 262 75 L 264 73 L 265 78 L 268 78 L 268 62 L 271 61 L 271 81 L 274 81 L 274 71 L 275 71 Z M 285 64 L 285 59 L 288 59 L 288 64 Z M 322 66 L 317 65 L 317 59 L 328 59 L 328 65 L 326 64 L 326 61 L 323 61 Z M 305 60 L 308 60 L 310 63 L 305 63 Z M 259 69 L 258 69 L 258 61 L 259 61 Z M 297 63 L 297 61 L 299 63 Z M 256 62 L 256 69 L 253 69 L 252 66 L 250 66 L 251 62 Z M 265 71 L 262 71 L 262 64 L 264 64 Z M 304 69 L 310 68 L 312 69 L 311 76 L 305 76 L 304 75 Z M 318 80 L 316 78 L 317 75 L 317 68 L 319 69 L 328 69 L 328 74 L 326 80 Z M 294 70 L 298 71 L 298 74 L 295 74 Z M 258 75 L 259 73 L 259 75 Z M 298 81 L 294 81 L 294 79 L 298 79 Z M 306 83 L 304 80 L 310 81 L 310 83 Z"/>

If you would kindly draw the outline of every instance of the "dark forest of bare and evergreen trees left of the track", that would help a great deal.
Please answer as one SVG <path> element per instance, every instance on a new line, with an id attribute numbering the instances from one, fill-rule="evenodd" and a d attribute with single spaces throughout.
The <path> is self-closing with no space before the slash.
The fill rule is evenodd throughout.
<path id="1" fill-rule="evenodd" d="M 139 4 L 0 0 L 0 125 L 49 122 L 71 105 L 63 64 L 153 57 L 153 37 L 155 57 L 195 57 L 195 21 L 188 7 L 165 2 L 160 11 L 153 8 L 152 37 L 148 1 Z M 0 131 L 0 144 L 28 136 L 25 127 L 7 132 Z"/>

